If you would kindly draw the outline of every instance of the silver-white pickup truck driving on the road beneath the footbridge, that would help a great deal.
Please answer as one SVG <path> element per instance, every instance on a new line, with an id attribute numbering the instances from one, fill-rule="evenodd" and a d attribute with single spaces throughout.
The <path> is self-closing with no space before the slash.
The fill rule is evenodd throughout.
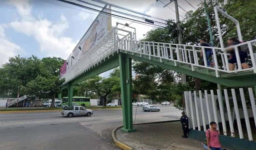
<path id="1" fill-rule="evenodd" d="M 67 115 L 68 117 L 73 116 L 91 116 L 93 115 L 93 110 L 85 109 L 83 106 L 73 106 L 71 109 L 62 109 L 62 115 Z"/>

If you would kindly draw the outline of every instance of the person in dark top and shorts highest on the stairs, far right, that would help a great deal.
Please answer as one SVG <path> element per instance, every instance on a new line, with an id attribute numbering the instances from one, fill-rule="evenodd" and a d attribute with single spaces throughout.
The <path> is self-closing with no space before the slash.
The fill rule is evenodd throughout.
<path id="1" fill-rule="evenodd" d="M 243 42 L 240 42 L 238 39 L 236 38 L 230 38 L 227 41 L 228 46 L 232 46 L 232 45 L 237 45 Z M 245 59 L 248 57 L 247 52 L 245 52 L 243 49 L 247 49 L 248 47 L 244 46 L 239 46 L 238 47 L 238 51 L 239 51 L 239 57 L 240 57 L 240 62 L 241 62 L 241 66 L 243 69 L 247 69 L 249 68 L 249 65 L 246 63 Z M 237 57 L 236 57 L 236 52 L 234 51 L 234 48 L 230 48 L 228 49 L 228 51 L 230 51 L 230 58 L 228 60 L 229 63 L 229 70 L 233 71 L 234 67 L 235 67 L 235 63 L 237 63 Z"/>

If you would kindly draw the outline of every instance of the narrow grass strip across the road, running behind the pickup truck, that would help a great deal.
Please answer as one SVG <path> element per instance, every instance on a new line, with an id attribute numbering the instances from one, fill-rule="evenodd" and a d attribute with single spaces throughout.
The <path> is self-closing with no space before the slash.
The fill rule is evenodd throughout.
<path id="1" fill-rule="evenodd" d="M 97 107 L 97 106 L 86 106 L 86 109 L 108 109 L 108 108 L 122 108 L 122 106 L 113 106 L 113 107 L 109 107 L 109 106 L 101 106 L 101 107 Z M 58 109 L 62 109 L 61 107 L 30 107 L 30 108 L 22 108 L 22 107 L 13 107 L 13 108 L 0 108 L 0 111 L 22 111 L 22 110 L 58 110 Z"/>

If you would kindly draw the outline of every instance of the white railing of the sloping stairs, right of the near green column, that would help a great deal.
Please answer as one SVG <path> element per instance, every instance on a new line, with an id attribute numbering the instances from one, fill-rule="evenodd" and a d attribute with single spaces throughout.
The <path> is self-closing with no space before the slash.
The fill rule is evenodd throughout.
<path id="1" fill-rule="evenodd" d="M 219 47 L 206 47 L 206 46 L 196 46 L 196 45 L 185 45 L 185 44 L 173 44 L 173 43 L 160 43 L 160 42 L 147 42 L 147 41 L 133 41 L 133 40 L 120 40 L 118 44 L 118 48 L 131 51 L 132 53 L 138 53 L 140 56 L 147 55 L 149 59 L 152 57 L 157 57 L 160 61 L 172 60 L 175 64 L 185 63 L 191 65 L 191 70 L 195 71 L 195 66 L 204 67 L 210 70 L 215 70 L 216 77 L 219 77 L 219 71 L 226 72 L 226 73 L 234 73 L 234 72 L 241 72 L 246 70 L 253 70 L 256 73 L 256 63 L 255 63 L 255 52 L 253 50 L 253 45 L 255 44 L 256 40 L 248 41 L 245 43 L 241 43 L 234 46 L 229 46 L 227 48 L 219 48 Z M 249 48 L 250 55 L 248 55 L 248 60 L 251 61 L 252 67 L 248 69 L 243 69 L 240 61 L 239 56 L 239 46 L 246 45 Z M 203 64 L 199 64 L 200 52 L 202 49 L 202 58 Z M 215 63 L 214 67 L 209 67 L 207 65 L 207 59 L 205 54 L 205 49 L 212 50 L 212 61 Z M 238 69 L 230 71 L 228 59 L 231 57 L 228 54 L 228 50 L 233 49 L 236 57 L 237 57 L 237 66 Z M 218 62 L 221 60 L 221 63 Z"/>

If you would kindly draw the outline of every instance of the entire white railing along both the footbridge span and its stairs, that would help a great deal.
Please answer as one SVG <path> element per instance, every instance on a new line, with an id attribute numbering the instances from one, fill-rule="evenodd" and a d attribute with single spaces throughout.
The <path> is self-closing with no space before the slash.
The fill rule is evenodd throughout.
<path id="1" fill-rule="evenodd" d="M 127 32 L 128 34 L 123 35 L 119 38 L 118 31 Z M 174 43 L 161 43 L 161 42 L 147 42 L 137 41 L 136 34 L 133 32 L 126 31 L 124 29 L 112 27 L 112 30 L 108 32 L 93 48 L 83 51 L 78 59 L 76 66 L 72 66 L 66 74 L 61 78 L 65 78 L 65 83 L 71 81 L 82 73 L 90 70 L 95 65 L 105 61 L 110 55 L 114 55 L 118 50 L 124 50 L 125 52 L 130 51 L 132 54 L 147 55 L 149 59 L 157 57 L 162 62 L 163 60 L 171 60 L 174 65 L 177 63 L 183 63 L 191 66 L 192 71 L 196 71 L 195 67 L 203 67 L 205 69 L 212 70 L 215 72 L 215 76 L 219 77 L 219 72 L 225 73 L 236 73 L 242 71 L 252 70 L 256 73 L 256 57 L 254 48 L 256 40 L 247 41 L 234 46 L 226 48 L 220 47 L 206 47 L 198 45 L 186 45 L 186 44 L 174 44 Z M 251 62 L 251 67 L 247 69 L 242 68 L 239 48 L 242 45 L 248 46 L 249 55 L 246 61 Z M 212 50 L 212 56 L 209 58 L 215 63 L 215 66 L 210 67 L 207 65 L 207 54 L 205 49 Z M 228 59 L 231 57 L 228 54 L 228 50 L 232 49 L 237 57 L 237 63 L 234 70 L 229 69 Z M 202 51 L 203 63 L 200 64 L 200 52 Z"/>

